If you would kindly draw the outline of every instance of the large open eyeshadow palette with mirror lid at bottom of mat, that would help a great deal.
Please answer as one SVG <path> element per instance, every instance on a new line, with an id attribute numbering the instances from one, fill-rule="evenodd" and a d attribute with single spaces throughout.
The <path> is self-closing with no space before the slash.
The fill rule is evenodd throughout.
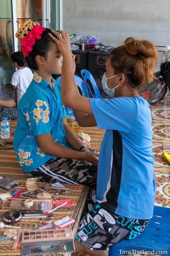
<path id="1" fill-rule="evenodd" d="M 74 251 L 70 228 L 23 232 L 22 256 L 51 255 Z"/>

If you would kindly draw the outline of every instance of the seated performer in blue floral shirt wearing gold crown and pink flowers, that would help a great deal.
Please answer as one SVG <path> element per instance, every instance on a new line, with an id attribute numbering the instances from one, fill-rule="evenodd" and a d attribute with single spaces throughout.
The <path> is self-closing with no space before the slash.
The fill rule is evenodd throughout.
<path id="1" fill-rule="evenodd" d="M 93 187 L 99 154 L 87 150 L 66 123 L 60 85 L 52 78 L 61 74 L 62 55 L 49 32 L 27 20 L 16 33 L 27 64 L 35 72 L 18 104 L 13 147 L 27 176 Z"/>

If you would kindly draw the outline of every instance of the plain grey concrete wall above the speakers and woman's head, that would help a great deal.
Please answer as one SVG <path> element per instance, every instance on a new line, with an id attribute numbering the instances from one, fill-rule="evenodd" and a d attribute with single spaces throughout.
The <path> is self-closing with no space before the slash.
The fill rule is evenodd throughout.
<path id="1" fill-rule="evenodd" d="M 129 37 L 170 45 L 170 0 L 63 0 L 64 30 L 119 46 Z"/>

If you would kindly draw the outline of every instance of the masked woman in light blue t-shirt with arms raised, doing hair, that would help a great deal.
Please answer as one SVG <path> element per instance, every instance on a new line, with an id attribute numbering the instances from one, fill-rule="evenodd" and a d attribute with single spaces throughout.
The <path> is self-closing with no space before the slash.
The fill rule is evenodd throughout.
<path id="1" fill-rule="evenodd" d="M 63 56 L 62 102 L 73 108 L 81 126 L 106 129 L 99 157 L 97 191 L 88 202 L 76 235 L 76 251 L 105 256 L 106 249 L 122 239 L 133 239 L 153 215 L 155 200 L 152 124 L 149 104 L 140 91 L 153 78 L 155 46 L 127 38 L 113 49 L 102 78 L 110 99 L 80 96 L 74 82 L 68 34 L 55 33 Z"/>

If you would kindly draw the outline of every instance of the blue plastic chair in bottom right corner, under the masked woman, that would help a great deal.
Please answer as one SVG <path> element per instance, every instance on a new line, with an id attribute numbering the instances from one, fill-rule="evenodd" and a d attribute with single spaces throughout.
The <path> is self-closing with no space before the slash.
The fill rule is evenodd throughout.
<path id="1" fill-rule="evenodd" d="M 155 255 L 170 256 L 170 208 L 154 206 L 154 215 L 146 229 L 135 239 L 114 243 L 109 249 L 109 256 L 121 255 L 120 250 L 154 250 Z M 162 251 L 167 251 L 167 254 Z"/>

